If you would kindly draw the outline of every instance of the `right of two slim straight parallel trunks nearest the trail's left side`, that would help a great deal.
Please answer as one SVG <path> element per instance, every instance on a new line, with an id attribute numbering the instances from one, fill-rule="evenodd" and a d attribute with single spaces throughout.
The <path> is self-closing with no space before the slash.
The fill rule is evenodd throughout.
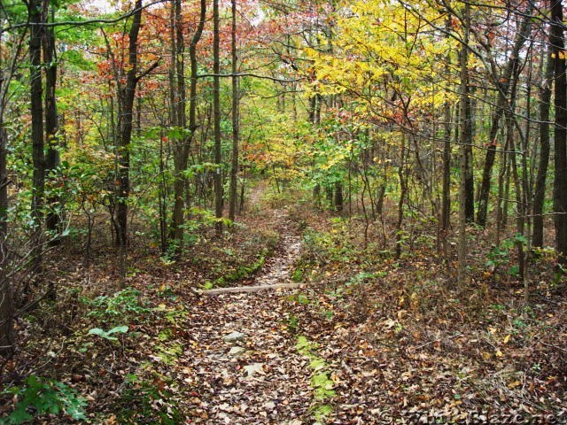
<path id="1" fill-rule="evenodd" d="M 238 102 L 240 90 L 237 77 L 237 0 L 232 0 L 232 29 L 230 32 L 232 56 L 232 163 L 230 167 L 229 219 L 234 221 L 237 211 L 237 176 L 238 176 L 238 143 L 240 142 L 240 125 Z"/>

